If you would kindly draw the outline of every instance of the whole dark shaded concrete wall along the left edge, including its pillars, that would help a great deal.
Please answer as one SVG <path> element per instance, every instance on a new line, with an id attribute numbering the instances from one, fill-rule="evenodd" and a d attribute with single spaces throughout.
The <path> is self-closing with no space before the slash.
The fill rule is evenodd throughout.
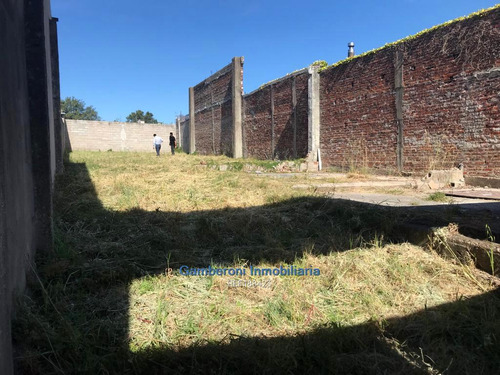
<path id="1" fill-rule="evenodd" d="M 0 374 L 13 371 L 14 297 L 35 250 L 52 247 L 57 130 L 50 19 L 48 0 L 0 0 Z"/>

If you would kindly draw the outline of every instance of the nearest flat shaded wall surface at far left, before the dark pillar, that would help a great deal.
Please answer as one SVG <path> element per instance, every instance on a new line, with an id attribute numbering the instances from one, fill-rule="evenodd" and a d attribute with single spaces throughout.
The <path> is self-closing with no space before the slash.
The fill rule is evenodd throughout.
<path id="1" fill-rule="evenodd" d="M 33 247 L 23 9 L 17 0 L 0 1 L 0 374 L 12 372 L 12 296 L 24 287 L 24 257 Z"/>

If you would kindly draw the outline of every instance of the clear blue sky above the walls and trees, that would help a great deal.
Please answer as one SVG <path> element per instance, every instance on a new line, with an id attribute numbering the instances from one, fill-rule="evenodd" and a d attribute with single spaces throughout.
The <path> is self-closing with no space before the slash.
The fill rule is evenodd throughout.
<path id="1" fill-rule="evenodd" d="M 103 120 L 188 113 L 188 88 L 244 56 L 244 91 L 489 8 L 489 0 L 52 0 L 61 97 Z"/>

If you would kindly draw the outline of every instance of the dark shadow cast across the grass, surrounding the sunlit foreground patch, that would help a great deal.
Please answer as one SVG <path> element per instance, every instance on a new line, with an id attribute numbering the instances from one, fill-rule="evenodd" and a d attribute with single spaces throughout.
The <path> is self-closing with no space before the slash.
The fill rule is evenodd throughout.
<path id="1" fill-rule="evenodd" d="M 436 210 L 435 220 L 452 218 Z M 41 282 L 29 280 L 31 294 L 15 323 L 20 373 L 496 373 L 498 291 L 291 337 L 129 350 L 128 288 L 137 278 L 180 265 L 292 262 L 304 252 L 345 251 L 374 238 L 403 242 L 398 224 L 428 214 L 426 207 L 311 197 L 244 209 L 114 212 L 98 200 L 85 165 L 67 164 L 57 181 L 55 254 L 38 254 Z"/>

